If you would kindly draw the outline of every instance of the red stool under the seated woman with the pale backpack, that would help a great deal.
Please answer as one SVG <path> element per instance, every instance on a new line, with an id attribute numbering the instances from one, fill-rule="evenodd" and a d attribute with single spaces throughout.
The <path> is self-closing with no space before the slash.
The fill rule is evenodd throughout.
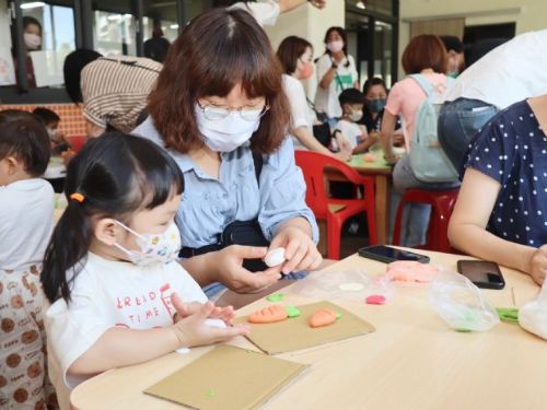
<path id="1" fill-rule="evenodd" d="M 421 248 L 452 253 L 454 249 L 450 245 L 447 231 L 458 191 L 459 188 L 447 190 L 407 189 L 397 208 L 393 244 L 400 245 L 400 224 L 405 204 L 407 202 L 428 203 L 431 206 L 431 216 L 429 219 L 427 243 Z"/>

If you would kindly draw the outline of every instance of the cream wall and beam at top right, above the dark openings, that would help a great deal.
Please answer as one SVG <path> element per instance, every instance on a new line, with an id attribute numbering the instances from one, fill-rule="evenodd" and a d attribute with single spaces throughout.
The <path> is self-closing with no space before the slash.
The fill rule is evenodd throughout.
<path id="1" fill-rule="evenodd" d="M 547 28 L 547 0 L 401 0 L 399 13 L 399 79 L 412 20 L 465 17 L 466 26 L 516 23 L 516 34 Z"/>

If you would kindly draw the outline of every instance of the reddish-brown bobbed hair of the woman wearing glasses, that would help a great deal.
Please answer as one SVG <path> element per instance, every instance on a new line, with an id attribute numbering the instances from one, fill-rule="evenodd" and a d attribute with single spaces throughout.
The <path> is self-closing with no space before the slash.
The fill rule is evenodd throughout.
<path id="1" fill-rule="evenodd" d="M 185 153 L 203 143 L 194 112 L 197 99 L 223 97 L 241 84 L 248 97 L 266 97 L 270 109 L 251 147 L 271 153 L 290 120 L 281 74 L 266 33 L 249 13 L 213 9 L 194 19 L 171 46 L 148 109 L 165 145 Z"/>

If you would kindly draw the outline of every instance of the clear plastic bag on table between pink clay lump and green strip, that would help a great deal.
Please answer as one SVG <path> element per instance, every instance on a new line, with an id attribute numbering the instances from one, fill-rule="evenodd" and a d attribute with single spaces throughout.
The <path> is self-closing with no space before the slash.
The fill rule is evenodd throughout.
<path id="1" fill-rule="evenodd" d="M 441 271 L 433 280 L 429 300 L 439 316 L 458 331 L 489 330 L 500 323 L 482 292 L 459 273 Z"/>

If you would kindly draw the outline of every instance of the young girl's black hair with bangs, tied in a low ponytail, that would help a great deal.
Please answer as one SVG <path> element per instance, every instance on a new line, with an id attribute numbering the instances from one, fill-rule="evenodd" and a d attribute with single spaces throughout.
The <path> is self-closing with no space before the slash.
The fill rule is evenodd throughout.
<path id="1" fill-rule="evenodd" d="M 152 141 L 120 132 L 90 140 L 69 163 L 65 183 L 68 207 L 46 249 L 40 280 L 49 302 L 70 301 L 71 281 L 90 248 L 93 218 L 129 224 L 135 212 L 153 209 L 183 190 L 181 168 Z M 83 201 L 71 200 L 74 192 Z"/>

